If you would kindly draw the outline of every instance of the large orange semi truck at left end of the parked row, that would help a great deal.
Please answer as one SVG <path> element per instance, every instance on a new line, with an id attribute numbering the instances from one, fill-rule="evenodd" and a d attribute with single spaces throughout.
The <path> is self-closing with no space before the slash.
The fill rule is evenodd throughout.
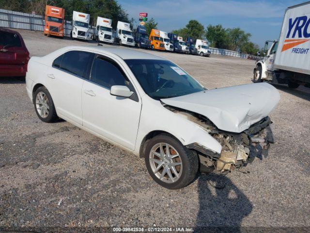
<path id="1" fill-rule="evenodd" d="M 64 35 L 64 9 L 47 5 L 45 11 L 44 35 Z"/>

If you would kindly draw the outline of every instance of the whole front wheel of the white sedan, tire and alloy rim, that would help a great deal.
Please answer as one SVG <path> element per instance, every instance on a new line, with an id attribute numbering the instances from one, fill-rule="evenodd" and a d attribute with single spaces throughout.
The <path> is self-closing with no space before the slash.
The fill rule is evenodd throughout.
<path id="1" fill-rule="evenodd" d="M 173 156 L 171 159 L 165 152 L 167 144 L 170 156 Z M 160 148 L 162 148 L 162 154 Z M 151 151 L 155 151 L 156 154 Z M 197 153 L 188 150 L 169 134 L 159 134 L 150 139 L 146 144 L 144 158 L 146 168 L 153 180 L 168 189 L 185 187 L 194 181 L 198 172 Z"/>

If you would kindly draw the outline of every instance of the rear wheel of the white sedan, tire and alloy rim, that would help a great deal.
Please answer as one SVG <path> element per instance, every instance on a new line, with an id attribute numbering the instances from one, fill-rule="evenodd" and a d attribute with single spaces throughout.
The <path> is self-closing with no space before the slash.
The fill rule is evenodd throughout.
<path id="1" fill-rule="evenodd" d="M 43 98 L 42 98 L 43 97 Z M 54 122 L 58 116 L 56 114 L 56 110 L 55 110 L 55 106 L 54 106 L 54 102 L 47 90 L 47 88 L 45 86 L 40 86 L 33 95 L 33 105 L 34 105 L 34 109 L 35 112 L 37 114 L 37 116 L 40 118 L 40 120 L 44 121 L 44 122 Z M 43 101 L 40 101 L 43 100 Z M 47 101 L 46 101 L 47 100 Z M 45 102 L 40 104 L 40 102 Z M 42 106 L 44 109 L 47 109 L 48 113 L 44 114 L 43 112 L 39 113 L 39 107 Z M 48 106 L 48 108 L 47 108 Z M 41 109 L 42 109 L 41 107 Z"/>

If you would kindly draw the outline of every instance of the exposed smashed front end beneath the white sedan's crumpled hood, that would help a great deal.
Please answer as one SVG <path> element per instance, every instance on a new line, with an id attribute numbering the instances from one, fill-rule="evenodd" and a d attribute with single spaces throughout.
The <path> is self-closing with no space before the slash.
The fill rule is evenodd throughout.
<path id="1" fill-rule="evenodd" d="M 196 150 L 200 159 L 202 172 L 225 173 L 235 168 L 241 168 L 251 163 L 255 157 L 261 156 L 273 143 L 273 136 L 269 125 L 270 118 L 264 117 L 242 133 L 225 132 L 217 127 L 205 116 L 184 109 L 164 105 L 172 112 L 186 117 L 186 119 L 200 125 L 213 136 L 222 146 L 221 153 L 202 149 L 196 143 L 187 145 L 188 149 Z"/>

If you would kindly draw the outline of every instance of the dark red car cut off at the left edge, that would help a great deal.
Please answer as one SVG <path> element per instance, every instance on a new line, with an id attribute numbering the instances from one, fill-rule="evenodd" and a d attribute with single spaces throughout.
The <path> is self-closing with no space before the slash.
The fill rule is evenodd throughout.
<path id="1" fill-rule="evenodd" d="M 0 28 L 0 77 L 25 76 L 29 51 L 21 35 Z"/>

